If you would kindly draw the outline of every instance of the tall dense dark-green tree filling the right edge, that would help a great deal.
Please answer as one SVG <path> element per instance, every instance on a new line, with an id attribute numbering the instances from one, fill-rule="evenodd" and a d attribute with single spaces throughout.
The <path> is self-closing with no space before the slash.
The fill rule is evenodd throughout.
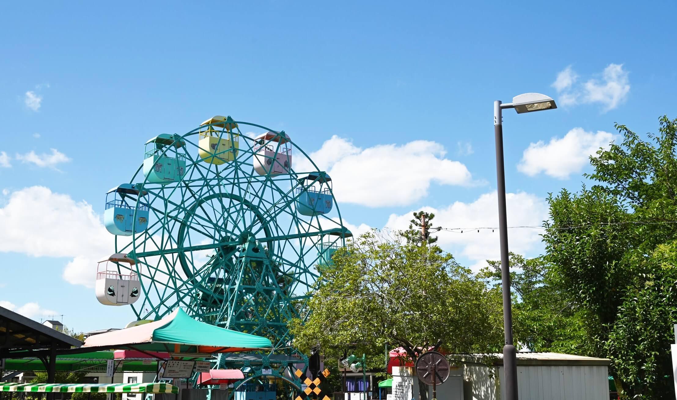
<path id="1" fill-rule="evenodd" d="M 590 158 L 594 186 L 550 195 L 543 235 L 554 280 L 589 313 L 592 353 L 636 399 L 674 397 L 677 120 L 659 121 L 648 141 L 617 124 L 623 142 Z"/>

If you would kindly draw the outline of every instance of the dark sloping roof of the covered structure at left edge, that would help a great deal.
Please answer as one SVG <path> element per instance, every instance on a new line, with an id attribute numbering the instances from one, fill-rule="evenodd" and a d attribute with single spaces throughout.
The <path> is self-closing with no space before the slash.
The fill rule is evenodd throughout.
<path id="1" fill-rule="evenodd" d="M 0 307 L 0 358 L 25 357 L 52 349 L 70 349 L 83 343 L 58 330 Z"/>

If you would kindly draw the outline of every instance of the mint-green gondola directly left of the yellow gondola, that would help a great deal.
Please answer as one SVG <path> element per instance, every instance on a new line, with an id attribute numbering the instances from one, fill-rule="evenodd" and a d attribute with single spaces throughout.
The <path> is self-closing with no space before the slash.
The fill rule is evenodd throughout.
<path id="1" fill-rule="evenodd" d="M 178 182 L 185 174 L 185 155 L 179 153 L 179 148 L 185 142 L 178 135 L 162 133 L 146 142 L 144 156 L 144 175 L 148 182 L 167 184 Z M 162 152 L 165 151 L 164 155 Z"/>

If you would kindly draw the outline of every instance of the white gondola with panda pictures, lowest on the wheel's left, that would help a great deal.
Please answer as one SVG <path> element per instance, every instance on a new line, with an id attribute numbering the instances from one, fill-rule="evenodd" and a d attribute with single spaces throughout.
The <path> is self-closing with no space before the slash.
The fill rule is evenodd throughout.
<path id="1" fill-rule="evenodd" d="M 127 254 L 115 253 L 99 261 L 96 272 L 96 298 L 105 305 L 128 305 L 139 299 L 139 275 L 132 269 L 135 261 Z"/>

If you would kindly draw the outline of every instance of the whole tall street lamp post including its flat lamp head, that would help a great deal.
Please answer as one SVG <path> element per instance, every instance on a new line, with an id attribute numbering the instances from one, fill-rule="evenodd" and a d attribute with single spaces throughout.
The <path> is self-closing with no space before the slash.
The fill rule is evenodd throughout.
<path id="1" fill-rule="evenodd" d="M 517 114 L 557 108 L 554 100 L 540 93 L 525 93 L 512 98 L 512 103 L 494 101 L 494 135 L 496 136 L 496 180 L 498 181 L 498 226 L 501 245 L 501 286 L 503 291 L 503 371 L 506 397 L 517 400 L 517 352 L 512 345 L 512 299 L 510 266 L 508 266 L 508 220 L 506 218 L 506 177 L 503 161 L 502 109 L 514 108 Z"/>

